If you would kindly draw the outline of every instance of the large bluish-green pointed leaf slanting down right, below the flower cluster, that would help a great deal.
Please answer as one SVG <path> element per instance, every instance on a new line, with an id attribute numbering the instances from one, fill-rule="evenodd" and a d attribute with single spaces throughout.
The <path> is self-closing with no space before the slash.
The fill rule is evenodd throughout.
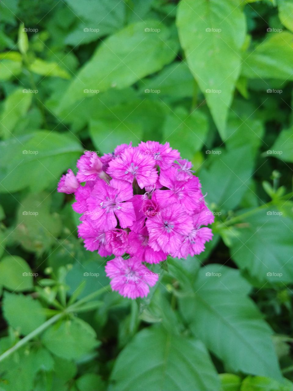
<path id="1" fill-rule="evenodd" d="M 202 267 L 194 292 L 179 299 L 181 314 L 229 371 L 280 378 L 272 330 L 247 297 L 247 285 L 235 269 Z"/>

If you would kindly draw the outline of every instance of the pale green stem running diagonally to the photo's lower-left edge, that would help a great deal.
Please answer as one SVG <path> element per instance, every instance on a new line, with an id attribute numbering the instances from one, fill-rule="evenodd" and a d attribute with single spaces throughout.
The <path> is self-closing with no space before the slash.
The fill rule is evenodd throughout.
<path id="1" fill-rule="evenodd" d="M 37 335 L 41 334 L 41 332 L 46 330 L 46 328 L 48 328 L 49 326 L 53 325 L 53 323 L 57 322 L 57 320 L 61 319 L 63 316 L 67 315 L 70 312 L 75 312 L 76 307 L 79 307 L 81 304 L 84 304 L 87 301 L 92 300 L 96 296 L 104 293 L 105 290 L 108 290 L 109 287 L 110 287 L 110 285 L 107 285 L 107 286 L 99 289 L 98 291 L 95 291 L 95 292 L 89 294 L 88 296 L 84 297 L 83 299 L 80 299 L 79 301 L 70 305 L 69 307 L 64 308 L 64 310 L 62 312 L 59 312 L 59 314 L 52 316 L 50 319 L 48 319 L 46 322 L 44 322 L 41 326 L 37 327 L 30 334 L 26 335 L 20 341 L 18 341 L 14 346 L 12 346 L 12 348 L 10 348 L 10 349 L 6 350 L 6 352 L 2 353 L 2 355 L 0 355 L 0 362 L 3 361 L 5 358 L 9 357 L 12 353 L 16 352 L 16 350 L 21 348 L 21 346 L 25 345 L 31 339 L 33 339 Z"/>

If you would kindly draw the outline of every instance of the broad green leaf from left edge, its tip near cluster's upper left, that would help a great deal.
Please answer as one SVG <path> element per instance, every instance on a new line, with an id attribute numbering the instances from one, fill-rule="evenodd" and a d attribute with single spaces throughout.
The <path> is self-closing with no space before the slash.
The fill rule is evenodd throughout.
<path id="1" fill-rule="evenodd" d="M 29 187 L 40 191 L 54 184 L 82 154 L 73 135 L 40 130 L 0 142 L 0 192 Z"/>

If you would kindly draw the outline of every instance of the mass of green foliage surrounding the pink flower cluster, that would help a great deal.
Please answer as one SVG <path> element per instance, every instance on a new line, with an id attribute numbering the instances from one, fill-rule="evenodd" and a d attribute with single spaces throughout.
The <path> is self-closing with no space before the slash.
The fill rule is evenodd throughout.
<path id="1" fill-rule="evenodd" d="M 0 20 L 0 390 L 293 390 L 293 2 L 2 0 Z M 140 140 L 193 162 L 215 222 L 130 301 L 56 186 Z"/>

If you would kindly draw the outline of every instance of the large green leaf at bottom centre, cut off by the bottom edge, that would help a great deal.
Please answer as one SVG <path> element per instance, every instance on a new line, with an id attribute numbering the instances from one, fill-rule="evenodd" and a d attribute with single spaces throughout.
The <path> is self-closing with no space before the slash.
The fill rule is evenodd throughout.
<path id="1" fill-rule="evenodd" d="M 154 326 L 136 334 L 123 349 L 111 380 L 113 391 L 215 391 L 220 387 L 200 341 L 168 334 Z"/>

